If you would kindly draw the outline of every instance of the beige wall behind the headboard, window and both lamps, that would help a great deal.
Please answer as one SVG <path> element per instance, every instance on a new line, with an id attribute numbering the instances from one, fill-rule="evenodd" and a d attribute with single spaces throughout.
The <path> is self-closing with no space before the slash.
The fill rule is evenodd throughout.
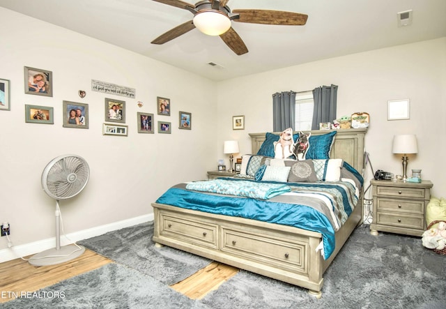
<path id="1" fill-rule="evenodd" d="M 392 154 L 393 135 L 416 134 L 419 153 L 410 156 L 409 174 L 422 169 L 422 177 L 433 181 L 433 195 L 446 197 L 445 55 L 446 38 L 440 38 L 220 82 L 219 151 L 224 140 L 236 139 L 240 152 L 250 153 L 247 133 L 272 130 L 272 93 L 337 84 L 337 116 L 370 114 L 366 150 L 374 170 L 401 174 L 401 156 Z M 387 101 L 405 98 L 410 99 L 410 120 L 387 121 Z M 233 115 L 245 115 L 245 130 L 231 129 Z M 372 176 L 370 167 L 367 176 Z"/>

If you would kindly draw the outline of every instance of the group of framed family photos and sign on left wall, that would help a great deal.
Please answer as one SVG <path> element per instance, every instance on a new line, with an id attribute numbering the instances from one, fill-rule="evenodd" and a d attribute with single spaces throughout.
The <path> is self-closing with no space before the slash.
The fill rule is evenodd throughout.
<path id="1" fill-rule="evenodd" d="M 50 70 L 24 66 L 24 93 L 35 96 L 53 96 L 53 73 Z M 135 89 L 100 82 L 91 81 L 91 90 L 102 93 L 116 94 L 128 98 L 135 97 Z M 79 98 L 86 97 L 86 91 L 77 91 Z M 63 128 L 89 129 L 89 104 L 63 100 L 62 110 Z M 126 102 L 116 98 L 105 98 L 105 123 L 102 125 L 102 135 L 128 136 L 126 121 Z M 25 104 L 25 122 L 39 124 L 54 124 L 54 107 Z M 143 107 L 141 101 L 138 107 Z M 157 96 L 157 114 L 171 116 L 171 100 Z M 0 111 L 10 110 L 10 80 L 0 78 Z M 192 113 L 178 112 L 178 128 L 192 130 Z M 171 134 L 171 121 L 157 121 L 158 133 Z M 150 112 L 137 112 L 137 133 L 155 133 L 154 114 Z"/>

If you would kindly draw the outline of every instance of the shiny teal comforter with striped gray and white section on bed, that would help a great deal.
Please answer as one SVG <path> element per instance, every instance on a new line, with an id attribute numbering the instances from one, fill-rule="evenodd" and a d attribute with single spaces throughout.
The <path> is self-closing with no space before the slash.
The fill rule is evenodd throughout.
<path id="1" fill-rule="evenodd" d="M 250 180 L 225 180 L 231 181 L 231 186 L 234 188 L 259 186 L 259 182 Z M 247 183 L 240 181 L 247 181 Z M 286 184 L 271 182 L 270 184 L 276 186 L 265 186 L 263 192 L 256 193 L 261 197 L 271 195 L 268 199 L 245 197 L 243 196 L 245 193 L 242 195 L 226 194 L 229 192 L 208 193 L 197 190 L 198 187 L 203 188 L 202 183 L 199 183 L 199 186 L 190 186 L 190 184 L 179 183 L 169 188 L 156 202 L 195 211 L 289 225 L 321 233 L 323 240 L 321 253 L 325 259 L 328 259 L 334 251 L 335 231 L 344 224 L 358 200 L 355 195 L 355 186 L 342 181 Z M 284 192 L 272 193 L 276 190 Z"/>

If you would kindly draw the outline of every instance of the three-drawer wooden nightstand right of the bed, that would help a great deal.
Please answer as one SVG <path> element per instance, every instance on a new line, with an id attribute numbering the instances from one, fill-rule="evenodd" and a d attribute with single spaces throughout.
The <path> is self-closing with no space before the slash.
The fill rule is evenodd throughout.
<path id="1" fill-rule="evenodd" d="M 431 199 L 431 181 L 421 183 L 371 180 L 374 218 L 370 233 L 392 232 L 422 236 L 426 230 L 426 205 Z"/>

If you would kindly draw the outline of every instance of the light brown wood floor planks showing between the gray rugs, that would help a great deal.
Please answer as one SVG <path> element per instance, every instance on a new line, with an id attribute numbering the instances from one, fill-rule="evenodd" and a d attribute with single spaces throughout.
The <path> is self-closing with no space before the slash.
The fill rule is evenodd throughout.
<path id="1" fill-rule="evenodd" d="M 0 263 L 0 303 L 14 299 L 15 293 L 20 295 L 21 292 L 34 292 L 81 273 L 93 271 L 108 263 L 113 263 L 112 259 L 102 257 L 88 249 L 72 261 L 52 266 L 33 266 L 24 259 Z M 237 272 L 238 269 L 232 266 L 212 262 L 171 287 L 190 299 L 201 299 Z"/>

